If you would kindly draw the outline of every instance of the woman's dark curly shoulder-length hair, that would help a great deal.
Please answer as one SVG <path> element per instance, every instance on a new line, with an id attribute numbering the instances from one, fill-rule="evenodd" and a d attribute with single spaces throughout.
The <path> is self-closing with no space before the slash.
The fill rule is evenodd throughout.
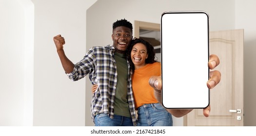
<path id="1" fill-rule="evenodd" d="M 134 67 L 134 64 L 133 64 L 133 61 L 132 61 L 132 58 L 131 58 L 131 51 L 133 49 L 133 46 L 137 43 L 142 43 L 143 45 L 146 46 L 147 48 L 147 53 L 148 53 L 148 58 L 145 60 L 145 63 L 146 64 L 152 64 L 152 63 L 155 63 L 155 62 L 158 62 L 157 60 L 155 60 L 155 55 L 156 55 L 156 52 L 154 50 L 154 47 L 149 43 L 147 42 L 146 40 L 142 39 L 142 38 L 134 38 L 132 41 L 131 41 L 131 44 L 130 46 L 128 47 L 127 49 L 127 59 L 130 63 L 130 67 L 132 69 L 132 71 L 134 71 L 135 67 Z"/>

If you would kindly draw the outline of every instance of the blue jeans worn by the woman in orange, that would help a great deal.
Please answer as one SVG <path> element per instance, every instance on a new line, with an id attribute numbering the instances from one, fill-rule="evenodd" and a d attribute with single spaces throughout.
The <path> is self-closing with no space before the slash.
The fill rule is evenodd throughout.
<path id="1" fill-rule="evenodd" d="M 140 106 L 137 122 L 138 126 L 173 126 L 172 115 L 160 103 Z"/>

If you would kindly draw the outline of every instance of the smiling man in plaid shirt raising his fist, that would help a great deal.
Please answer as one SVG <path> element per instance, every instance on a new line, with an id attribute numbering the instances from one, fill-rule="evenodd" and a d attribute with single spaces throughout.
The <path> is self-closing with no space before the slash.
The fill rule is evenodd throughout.
<path id="1" fill-rule="evenodd" d="M 92 84 L 98 85 L 91 101 L 95 126 L 137 125 L 129 62 L 125 56 L 132 32 L 133 26 L 129 21 L 117 20 L 113 23 L 113 45 L 92 47 L 75 65 L 64 53 L 65 39 L 60 34 L 54 37 L 59 59 L 68 77 L 77 81 L 89 74 Z"/>

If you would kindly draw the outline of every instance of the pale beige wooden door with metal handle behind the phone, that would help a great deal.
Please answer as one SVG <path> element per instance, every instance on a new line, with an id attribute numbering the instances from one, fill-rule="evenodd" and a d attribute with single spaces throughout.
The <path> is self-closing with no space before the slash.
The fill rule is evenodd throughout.
<path id="1" fill-rule="evenodd" d="M 210 32 L 209 39 L 210 54 L 220 59 L 221 81 L 210 90 L 210 116 L 193 110 L 184 125 L 243 126 L 243 30 Z"/>

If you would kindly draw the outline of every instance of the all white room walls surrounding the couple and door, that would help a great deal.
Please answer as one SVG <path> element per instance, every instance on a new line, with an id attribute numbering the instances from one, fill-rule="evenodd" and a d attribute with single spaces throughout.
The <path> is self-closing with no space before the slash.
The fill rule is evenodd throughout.
<path id="1" fill-rule="evenodd" d="M 112 44 L 117 19 L 160 23 L 160 14 L 171 10 L 205 10 L 211 31 L 245 29 L 245 125 L 256 125 L 255 0 L 31 0 L 34 7 L 28 1 L 0 0 L 0 126 L 93 125 L 91 84 L 67 78 L 53 36 L 65 37 L 66 55 L 76 63 L 88 48 Z"/>

